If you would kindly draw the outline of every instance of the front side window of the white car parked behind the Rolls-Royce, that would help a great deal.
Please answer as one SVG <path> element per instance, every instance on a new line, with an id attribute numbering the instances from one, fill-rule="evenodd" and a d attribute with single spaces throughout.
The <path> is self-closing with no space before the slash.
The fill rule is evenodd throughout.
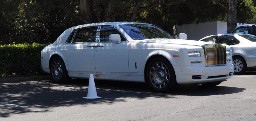
<path id="1" fill-rule="evenodd" d="M 234 45 L 234 44 L 239 44 L 240 42 L 233 36 L 220 36 L 218 43 L 219 44 Z"/>

